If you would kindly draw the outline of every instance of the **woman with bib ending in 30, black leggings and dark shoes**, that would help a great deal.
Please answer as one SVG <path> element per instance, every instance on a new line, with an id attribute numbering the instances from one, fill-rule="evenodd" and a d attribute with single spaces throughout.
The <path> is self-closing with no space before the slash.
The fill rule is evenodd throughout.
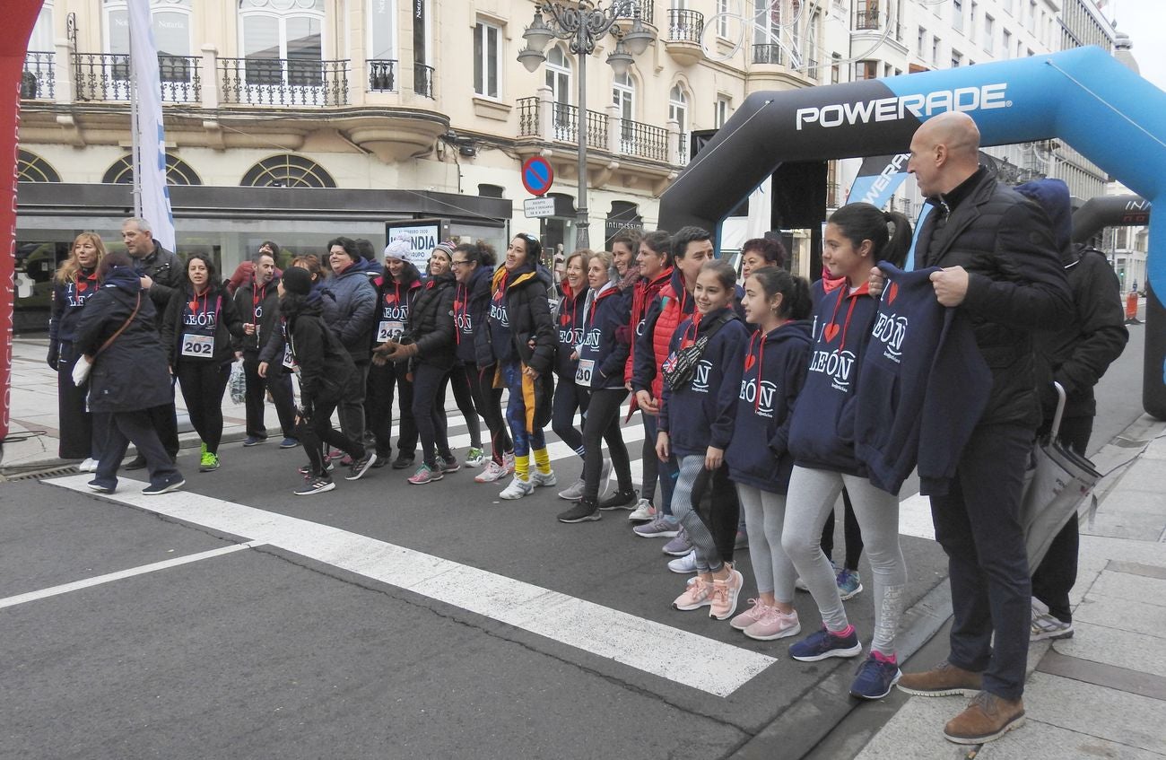
<path id="1" fill-rule="evenodd" d="M 624 365 L 630 350 L 620 328 L 627 324 L 631 301 L 611 280 L 611 254 L 592 253 L 588 260 L 588 293 L 583 309 L 582 336 L 575 356 L 577 368 L 571 378 L 582 393 L 590 396 L 583 422 L 583 492 L 570 509 L 559 515 L 560 522 L 598 520 L 599 509 L 618 509 L 635 505 L 632 490 L 632 470 L 619 429 L 619 404 L 627 397 L 624 387 Z M 571 381 L 568 380 L 568 381 Z M 603 462 L 603 442 L 607 442 L 611 465 Z M 599 501 L 599 487 L 614 466 L 619 490 Z M 562 494 L 560 494 L 562 495 Z"/>

